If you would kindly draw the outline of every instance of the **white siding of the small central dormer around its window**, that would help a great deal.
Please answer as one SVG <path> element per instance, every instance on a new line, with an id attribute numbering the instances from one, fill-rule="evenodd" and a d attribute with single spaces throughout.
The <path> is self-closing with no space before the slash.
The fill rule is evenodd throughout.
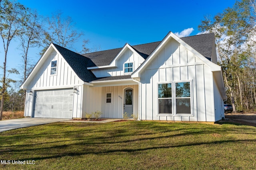
<path id="1" fill-rule="evenodd" d="M 144 59 L 133 53 L 130 49 L 126 49 L 124 53 L 116 60 L 116 67 L 113 68 L 101 68 L 92 70 L 96 77 L 108 77 L 108 76 L 121 76 L 124 74 L 124 63 L 133 62 L 133 69 L 136 70 L 140 64 L 144 62 Z"/>

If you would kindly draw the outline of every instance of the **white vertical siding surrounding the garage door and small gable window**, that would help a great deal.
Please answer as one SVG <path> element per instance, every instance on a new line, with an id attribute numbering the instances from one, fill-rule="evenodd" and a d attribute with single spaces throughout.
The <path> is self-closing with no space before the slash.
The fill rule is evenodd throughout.
<path id="1" fill-rule="evenodd" d="M 51 61 L 54 60 L 57 61 L 57 74 L 51 75 Z M 40 68 L 38 69 L 37 74 L 35 74 L 32 81 L 28 84 L 24 116 L 32 116 L 34 92 L 36 90 L 54 90 L 60 88 L 73 88 L 76 86 L 78 93 L 74 93 L 73 117 L 82 117 L 83 81 L 76 75 L 64 58 L 59 53 L 52 50 L 44 63 L 38 66 L 40 66 Z M 33 91 L 32 95 L 29 95 L 30 90 Z"/>

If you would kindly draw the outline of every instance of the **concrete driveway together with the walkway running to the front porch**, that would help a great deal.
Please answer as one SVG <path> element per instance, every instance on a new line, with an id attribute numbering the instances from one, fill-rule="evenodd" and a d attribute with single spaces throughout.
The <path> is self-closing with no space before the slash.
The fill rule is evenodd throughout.
<path id="1" fill-rule="evenodd" d="M 30 127 L 36 125 L 43 125 L 54 122 L 82 122 L 82 123 L 107 123 L 111 121 L 118 121 L 122 119 L 106 119 L 102 121 L 80 121 L 80 120 L 71 120 L 71 119 L 54 119 L 54 118 L 35 118 L 35 117 L 26 117 L 21 119 L 10 119 L 10 120 L 2 120 L 0 121 L 0 132 L 8 131 L 11 129 L 18 129 L 22 127 Z"/>

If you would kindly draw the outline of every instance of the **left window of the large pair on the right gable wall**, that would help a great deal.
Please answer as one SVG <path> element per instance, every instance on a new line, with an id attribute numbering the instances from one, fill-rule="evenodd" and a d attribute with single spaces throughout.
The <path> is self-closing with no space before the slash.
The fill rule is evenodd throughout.
<path id="1" fill-rule="evenodd" d="M 172 84 L 158 84 L 158 113 L 172 114 Z"/>

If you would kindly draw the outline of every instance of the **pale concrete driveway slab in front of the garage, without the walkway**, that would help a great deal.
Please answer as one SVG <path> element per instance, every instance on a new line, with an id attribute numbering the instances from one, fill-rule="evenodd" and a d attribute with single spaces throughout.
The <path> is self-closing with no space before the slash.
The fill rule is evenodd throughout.
<path id="1" fill-rule="evenodd" d="M 59 121 L 68 121 L 70 119 L 54 119 L 54 118 L 34 118 L 26 117 L 21 119 L 10 119 L 0 121 L 0 132 L 8 131 L 11 129 L 18 129 L 22 127 L 43 125 L 47 123 L 54 123 Z"/>

